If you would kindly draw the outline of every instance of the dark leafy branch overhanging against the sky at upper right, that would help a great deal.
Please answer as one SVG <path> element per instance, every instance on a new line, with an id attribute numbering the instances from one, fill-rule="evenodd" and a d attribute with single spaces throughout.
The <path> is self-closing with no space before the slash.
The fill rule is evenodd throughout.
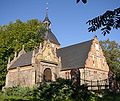
<path id="1" fill-rule="evenodd" d="M 104 14 L 89 20 L 87 23 L 90 25 L 88 28 L 89 32 L 94 32 L 101 28 L 103 35 L 109 34 L 112 28 L 120 28 L 120 7 L 113 11 L 108 10 Z"/>

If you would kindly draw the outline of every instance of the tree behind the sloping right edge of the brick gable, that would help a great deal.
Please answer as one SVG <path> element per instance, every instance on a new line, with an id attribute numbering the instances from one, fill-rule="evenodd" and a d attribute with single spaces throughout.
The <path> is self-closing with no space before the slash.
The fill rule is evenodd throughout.
<path id="1" fill-rule="evenodd" d="M 100 41 L 107 63 L 114 73 L 120 74 L 120 45 L 115 41 Z M 120 76 L 120 75 L 119 75 Z"/>

